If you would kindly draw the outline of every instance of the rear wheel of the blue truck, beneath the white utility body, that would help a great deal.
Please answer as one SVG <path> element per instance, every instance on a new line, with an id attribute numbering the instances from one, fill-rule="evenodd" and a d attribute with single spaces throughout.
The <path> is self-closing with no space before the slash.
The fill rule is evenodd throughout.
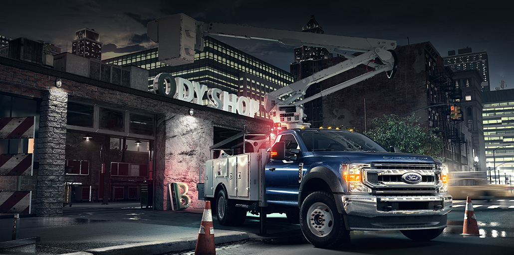
<path id="1" fill-rule="evenodd" d="M 223 226 L 242 225 L 246 220 L 246 210 L 235 207 L 234 201 L 228 199 L 225 189 L 216 195 L 216 215 L 219 224 Z"/>

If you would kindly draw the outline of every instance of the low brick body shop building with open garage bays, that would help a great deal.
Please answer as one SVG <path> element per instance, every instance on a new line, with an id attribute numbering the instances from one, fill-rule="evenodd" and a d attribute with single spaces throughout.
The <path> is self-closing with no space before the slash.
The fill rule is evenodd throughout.
<path id="1" fill-rule="evenodd" d="M 138 199 L 141 184 L 153 183 L 154 208 L 166 210 L 167 184 L 181 182 L 189 186 L 191 208 L 203 208 L 196 183 L 198 167 L 211 158 L 209 147 L 244 126 L 258 132 L 271 125 L 258 116 L 5 57 L 0 97 L 0 117 L 35 116 L 33 155 L 39 163 L 32 176 L 0 176 L 0 189 L 21 182 L 32 191 L 30 213 L 42 217 L 62 215 L 65 183 L 75 187 L 75 201 Z M 30 146 L 9 141 L 0 150 Z"/>

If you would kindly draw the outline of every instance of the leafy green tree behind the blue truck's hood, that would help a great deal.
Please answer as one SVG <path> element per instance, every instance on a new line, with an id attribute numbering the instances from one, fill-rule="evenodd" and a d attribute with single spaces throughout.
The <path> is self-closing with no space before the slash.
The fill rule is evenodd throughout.
<path id="1" fill-rule="evenodd" d="M 440 155 L 444 144 L 435 133 L 437 128 L 421 127 L 418 121 L 414 114 L 406 117 L 384 115 L 383 119 L 373 119 L 374 129 L 364 134 L 385 148 L 396 146 L 402 152 L 429 155 L 443 161 Z"/>

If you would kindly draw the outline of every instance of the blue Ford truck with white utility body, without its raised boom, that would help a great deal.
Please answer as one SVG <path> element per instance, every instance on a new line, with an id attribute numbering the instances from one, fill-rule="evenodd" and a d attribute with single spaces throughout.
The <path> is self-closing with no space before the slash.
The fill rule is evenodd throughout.
<path id="1" fill-rule="evenodd" d="M 268 150 L 207 161 L 199 197 L 222 225 L 244 223 L 248 211 L 285 213 L 317 247 L 338 246 L 352 230 L 432 240 L 452 208 L 446 169 L 392 150 L 347 130 L 286 130 Z"/>

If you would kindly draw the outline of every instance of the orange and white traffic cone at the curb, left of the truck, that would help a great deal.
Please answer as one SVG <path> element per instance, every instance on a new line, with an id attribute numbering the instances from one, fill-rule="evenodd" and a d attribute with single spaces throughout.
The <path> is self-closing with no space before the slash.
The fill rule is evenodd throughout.
<path id="1" fill-rule="evenodd" d="M 214 255 L 216 246 L 214 245 L 214 227 L 212 225 L 211 202 L 205 202 L 204 214 L 201 217 L 200 231 L 196 240 L 195 255 Z"/>

